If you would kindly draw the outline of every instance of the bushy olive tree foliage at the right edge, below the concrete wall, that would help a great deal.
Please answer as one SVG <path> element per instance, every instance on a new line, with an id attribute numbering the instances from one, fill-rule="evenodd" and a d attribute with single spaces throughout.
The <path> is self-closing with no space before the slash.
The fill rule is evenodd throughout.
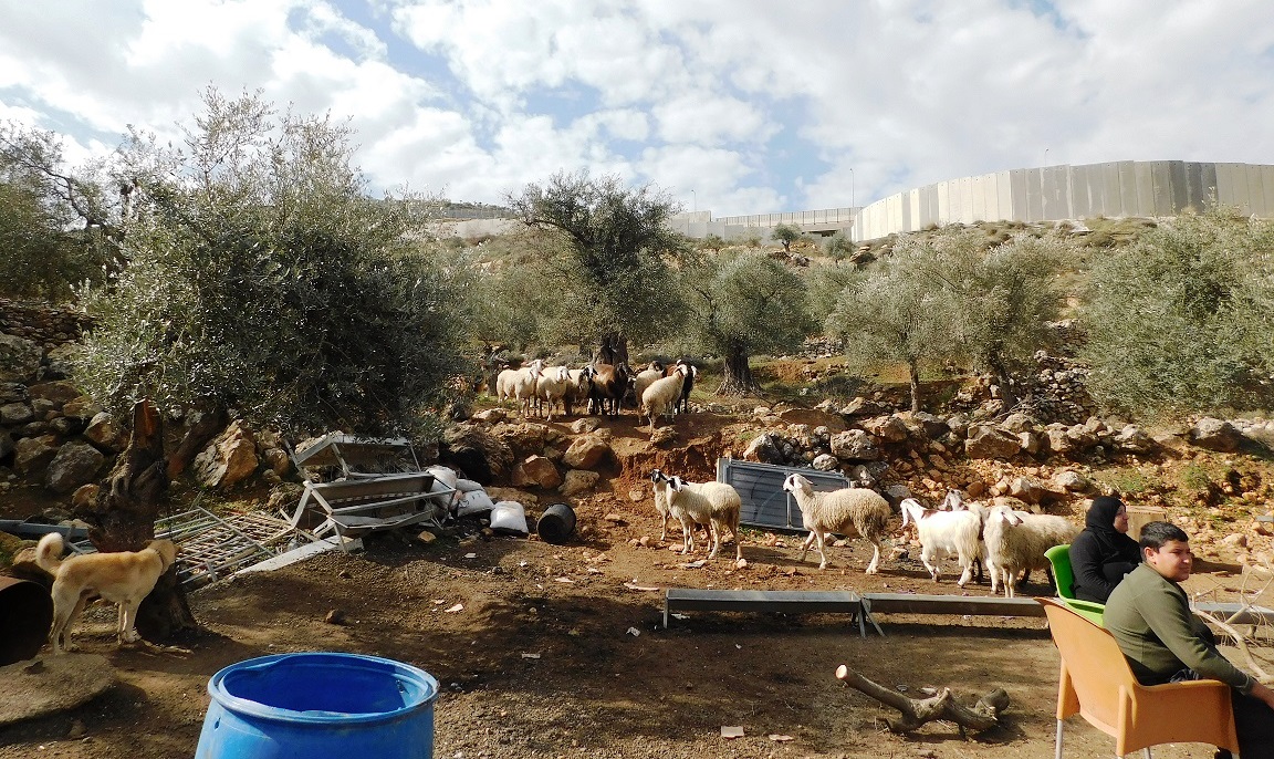
<path id="1" fill-rule="evenodd" d="M 1184 214 L 1093 268 L 1089 389 L 1145 416 L 1274 404 L 1274 225 Z"/>

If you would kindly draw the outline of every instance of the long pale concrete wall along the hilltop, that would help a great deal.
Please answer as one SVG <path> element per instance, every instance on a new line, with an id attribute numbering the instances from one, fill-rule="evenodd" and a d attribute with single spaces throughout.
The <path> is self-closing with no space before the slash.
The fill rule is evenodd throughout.
<path id="1" fill-rule="evenodd" d="M 762 213 L 713 219 L 701 210 L 669 226 L 689 237 L 768 237 L 786 223 L 814 235 L 875 240 L 950 223 L 1057 222 L 1096 217 L 1167 217 L 1215 198 L 1241 213 L 1274 218 L 1274 166 L 1192 161 L 1112 161 L 1014 168 L 906 190 L 862 208 Z"/>

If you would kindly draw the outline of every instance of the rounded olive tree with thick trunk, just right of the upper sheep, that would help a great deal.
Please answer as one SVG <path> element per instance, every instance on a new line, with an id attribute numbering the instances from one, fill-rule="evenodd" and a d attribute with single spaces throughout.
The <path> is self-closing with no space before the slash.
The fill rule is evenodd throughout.
<path id="1" fill-rule="evenodd" d="M 719 395 L 759 394 L 749 358 L 790 350 L 812 330 L 805 283 L 767 255 L 703 259 L 688 267 L 682 279 L 689 337 L 705 352 L 724 360 Z"/>

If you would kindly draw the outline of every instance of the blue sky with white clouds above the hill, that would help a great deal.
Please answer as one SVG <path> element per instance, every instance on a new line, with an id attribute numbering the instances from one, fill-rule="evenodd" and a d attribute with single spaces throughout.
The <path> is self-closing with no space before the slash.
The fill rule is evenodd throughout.
<path id="1" fill-rule="evenodd" d="M 372 190 L 484 203 L 577 168 L 721 217 L 1274 163 L 1268 0 L 0 0 L 0 120 L 71 158 L 209 84 L 352 119 Z"/>

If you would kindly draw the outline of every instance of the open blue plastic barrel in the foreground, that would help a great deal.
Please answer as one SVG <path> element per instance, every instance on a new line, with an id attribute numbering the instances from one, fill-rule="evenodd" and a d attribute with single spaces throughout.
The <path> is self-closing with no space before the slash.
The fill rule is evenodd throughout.
<path id="1" fill-rule="evenodd" d="M 195 759 L 432 759 L 438 681 L 392 660 L 283 653 L 231 665 Z"/>

